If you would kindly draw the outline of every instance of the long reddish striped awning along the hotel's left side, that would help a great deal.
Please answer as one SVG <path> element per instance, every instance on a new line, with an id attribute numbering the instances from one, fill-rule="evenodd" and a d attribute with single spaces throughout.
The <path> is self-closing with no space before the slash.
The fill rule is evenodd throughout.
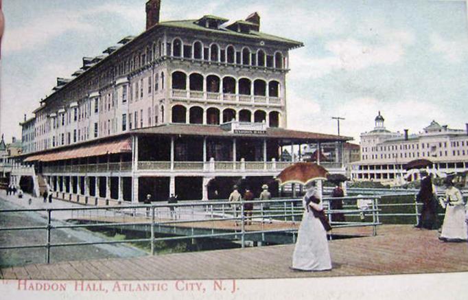
<path id="1" fill-rule="evenodd" d="M 106 141 L 88 146 L 56 151 L 51 153 L 36 154 L 27 157 L 24 161 L 61 161 L 64 159 L 78 159 L 82 157 L 96 157 L 106 154 L 117 154 L 131 152 L 132 143 L 130 138 L 117 141 Z"/>

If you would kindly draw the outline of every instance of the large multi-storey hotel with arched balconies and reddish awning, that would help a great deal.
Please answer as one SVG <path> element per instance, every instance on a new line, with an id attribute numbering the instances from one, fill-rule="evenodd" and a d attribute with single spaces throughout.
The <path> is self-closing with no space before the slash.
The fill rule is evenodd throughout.
<path id="1" fill-rule="evenodd" d="M 160 6 L 148 1 L 145 32 L 83 58 L 21 123 L 38 185 L 96 203 L 226 198 L 241 179 L 275 194 L 283 148 L 349 140 L 286 129 L 288 51 L 302 43 L 261 32 L 257 13 L 160 22 Z M 325 167 L 344 172 L 342 157 Z"/>

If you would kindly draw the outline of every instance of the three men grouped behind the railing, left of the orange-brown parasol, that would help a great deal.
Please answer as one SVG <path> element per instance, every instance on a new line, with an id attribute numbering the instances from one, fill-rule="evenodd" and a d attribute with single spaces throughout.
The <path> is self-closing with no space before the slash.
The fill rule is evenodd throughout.
<path id="1" fill-rule="evenodd" d="M 268 192 L 268 185 L 262 185 L 261 186 L 261 193 L 259 195 L 259 200 L 270 200 L 271 199 L 271 193 Z M 239 187 L 237 185 L 234 185 L 233 187 L 233 192 L 229 195 L 229 203 L 232 203 L 233 209 L 234 209 L 234 217 L 236 218 L 235 220 L 235 225 L 237 225 L 237 216 L 238 216 L 238 211 L 239 211 L 239 203 L 242 200 L 245 200 L 246 203 L 244 203 L 244 217 L 245 217 L 245 222 L 244 224 L 250 225 L 252 224 L 252 215 L 253 215 L 253 203 L 249 202 L 251 200 L 254 200 L 255 196 L 253 192 L 250 190 L 249 187 L 246 187 L 246 191 L 244 192 L 244 196 L 242 196 L 241 193 L 239 193 Z M 265 203 L 264 204 L 264 209 L 268 209 L 270 207 L 270 203 Z"/>

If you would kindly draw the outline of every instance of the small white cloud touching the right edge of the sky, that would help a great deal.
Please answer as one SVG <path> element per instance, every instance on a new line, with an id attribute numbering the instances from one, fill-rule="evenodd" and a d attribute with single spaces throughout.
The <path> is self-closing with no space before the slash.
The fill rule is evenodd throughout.
<path id="1" fill-rule="evenodd" d="M 468 58 L 468 40 L 465 36 L 458 36 L 454 40 L 443 38 L 440 34 L 434 33 L 430 36 L 430 50 L 441 54 L 445 60 L 451 63 L 458 63 Z"/>

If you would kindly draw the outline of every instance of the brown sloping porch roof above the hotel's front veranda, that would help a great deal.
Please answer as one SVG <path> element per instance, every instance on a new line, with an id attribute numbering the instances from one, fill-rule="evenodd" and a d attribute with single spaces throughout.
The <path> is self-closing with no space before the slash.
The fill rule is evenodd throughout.
<path id="1" fill-rule="evenodd" d="M 270 139 L 282 139 L 284 141 L 327 142 L 327 141 L 349 141 L 352 137 L 338 135 L 327 135 L 317 132 L 299 130 L 288 130 L 283 128 L 267 128 L 264 133 L 241 132 L 234 133 L 223 130 L 219 125 L 196 125 L 196 124 L 165 124 L 150 128 L 132 130 L 132 133 L 143 135 L 199 135 L 207 137 L 259 137 Z"/>

